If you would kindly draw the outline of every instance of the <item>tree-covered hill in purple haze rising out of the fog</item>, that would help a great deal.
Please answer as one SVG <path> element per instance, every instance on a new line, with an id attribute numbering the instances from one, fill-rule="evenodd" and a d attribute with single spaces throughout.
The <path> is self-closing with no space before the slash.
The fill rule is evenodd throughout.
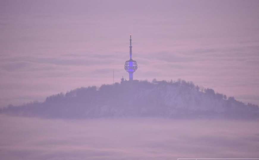
<path id="1" fill-rule="evenodd" d="M 178 81 L 122 81 L 74 89 L 21 106 L 9 105 L 1 113 L 45 118 L 164 117 L 245 118 L 259 117 L 258 105 L 244 104 L 213 89 Z"/>

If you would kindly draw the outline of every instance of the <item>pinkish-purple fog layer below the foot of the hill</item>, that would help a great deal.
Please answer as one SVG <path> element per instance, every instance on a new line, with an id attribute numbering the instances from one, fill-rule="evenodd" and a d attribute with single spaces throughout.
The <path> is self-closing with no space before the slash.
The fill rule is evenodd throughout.
<path id="1" fill-rule="evenodd" d="M 2 159 L 257 158 L 258 121 L 0 116 Z"/>

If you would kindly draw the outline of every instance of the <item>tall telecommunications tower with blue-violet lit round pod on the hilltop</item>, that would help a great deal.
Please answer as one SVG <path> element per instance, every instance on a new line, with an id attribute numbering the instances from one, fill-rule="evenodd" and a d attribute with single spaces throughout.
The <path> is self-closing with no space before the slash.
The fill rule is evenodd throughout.
<path id="1" fill-rule="evenodd" d="M 129 80 L 133 80 L 133 73 L 138 69 L 137 62 L 132 59 L 132 46 L 131 46 L 131 35 L 130 35 L 130 60 L 127 60 L 124 65 L 124 69 L 129 74 Z"/>

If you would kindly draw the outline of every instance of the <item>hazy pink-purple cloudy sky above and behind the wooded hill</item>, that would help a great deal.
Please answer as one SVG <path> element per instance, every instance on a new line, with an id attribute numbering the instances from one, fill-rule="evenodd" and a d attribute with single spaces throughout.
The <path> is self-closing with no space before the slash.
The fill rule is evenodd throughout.
<path id="1" fill-rule="evenodd" d="M 0 107 L 128 79 L 259 104 L 259 1 L 0 1 Z"/>

